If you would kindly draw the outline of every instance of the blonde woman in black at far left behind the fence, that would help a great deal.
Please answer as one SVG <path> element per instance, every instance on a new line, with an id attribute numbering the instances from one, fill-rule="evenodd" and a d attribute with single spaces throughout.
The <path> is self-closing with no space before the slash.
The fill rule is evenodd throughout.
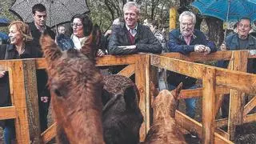
<path id="1" fill-rule="evenodd" d="M 0 46 L 1 59 L 18 59 L 18 58 L 40 58 L 41 52 L 34 46 L 29 26 L 22 21 L 14 21 L 9 26 L 9 45 Z M 0 71 L 0 106 L 10 106 L 10 87 L 8 72 Z M 4 141 L 6 144 L 11 143 L 15 137 L 14 120 L 4 121 Z"/>

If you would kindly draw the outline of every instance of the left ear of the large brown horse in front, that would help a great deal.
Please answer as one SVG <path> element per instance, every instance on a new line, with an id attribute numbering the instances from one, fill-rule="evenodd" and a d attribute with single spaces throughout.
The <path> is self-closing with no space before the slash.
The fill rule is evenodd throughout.
<path id="1" fill-rule="evenodd" d="M 40 38 L 40 45 L 48 63 L 62 57 L 62 51 L 56 45 L 54 40 L 50 38 L 49 34 L 42 34 Z"/>

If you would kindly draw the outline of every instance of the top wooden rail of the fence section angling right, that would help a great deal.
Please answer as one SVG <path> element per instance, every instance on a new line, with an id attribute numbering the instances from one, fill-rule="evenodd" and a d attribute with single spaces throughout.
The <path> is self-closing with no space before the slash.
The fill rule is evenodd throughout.
<path id="1" fill-rule="evenodd" d="M 215 69 L 216 84 L 218 86 L 228 86 L 235 90 L 242 90 L 246 93 L 256 94 L 256 74 L 226 70 L 194 62 L 186 62 L 174 58 L 166 58 L 155 54 L 151 55 L 150 61 L 152 66 L 157 66 L 198 79 L 201 79 L 203 76 L 202 70 L 206 68 Z"/>

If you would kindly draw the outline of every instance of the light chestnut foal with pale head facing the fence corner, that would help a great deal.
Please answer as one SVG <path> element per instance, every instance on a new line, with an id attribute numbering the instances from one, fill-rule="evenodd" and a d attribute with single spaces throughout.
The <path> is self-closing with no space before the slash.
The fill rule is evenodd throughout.
<path id="1" fill-rule="evenodd" d="M 162 90 L 152 104 L 154 110 L 154 122 L 150 127 L 144 143 L 186 143 L 182 131 L 179 130 L 175 120 L 175 110 L 182 84 L 175 90 Z"/>

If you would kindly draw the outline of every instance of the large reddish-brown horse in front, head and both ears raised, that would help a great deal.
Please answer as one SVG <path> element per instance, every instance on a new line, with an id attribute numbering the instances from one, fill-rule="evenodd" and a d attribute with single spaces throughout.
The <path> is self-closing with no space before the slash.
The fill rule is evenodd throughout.
<path id="1" fill-rule="evenodd" d="M 94 66 L 98 26 L 81 51 L 61 51 L 50 36 L 41 45 L 49 75 L 52 105 L 58 124 L 58 143 L 104 143 L 102 130 L 102 74 Z"/>

